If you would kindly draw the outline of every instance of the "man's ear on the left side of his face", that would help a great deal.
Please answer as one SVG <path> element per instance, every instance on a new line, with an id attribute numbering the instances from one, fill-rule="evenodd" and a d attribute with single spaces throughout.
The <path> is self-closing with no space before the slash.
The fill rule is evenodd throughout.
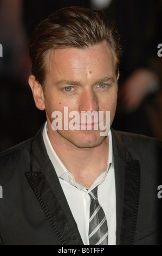
<path id="1" fill-rule="evenodd" d="M 40 110 L 44 110 L 44 92 L 41 84 L 36 81 L 35 76 L 33 75 L 29 76 L 28 82 L 33 93 L 36 107 Z"/>

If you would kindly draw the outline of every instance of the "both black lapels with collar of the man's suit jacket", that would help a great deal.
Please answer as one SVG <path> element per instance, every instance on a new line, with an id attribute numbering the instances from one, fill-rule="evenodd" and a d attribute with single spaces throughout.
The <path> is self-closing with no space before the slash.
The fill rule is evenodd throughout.
<path id="1" fill-rule="evenodd" d="M 61 245 L 83 245 L 77 225 L 44 146 L 42 131 L 31 143 L 31 171 L 25 173 Z M 116 187 L 116 245 L 131 245 L 137 221 L 140 168 L 112 129 Z"/>

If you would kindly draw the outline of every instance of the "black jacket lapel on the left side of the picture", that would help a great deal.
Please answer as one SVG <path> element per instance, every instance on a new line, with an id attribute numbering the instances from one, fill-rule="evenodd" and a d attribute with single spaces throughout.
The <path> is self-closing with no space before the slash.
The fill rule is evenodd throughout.
<path id="1" fill-rule="evenodd" d="M 25 173 L 61 245 L 83 245 L 53 164 L 44 147 L 42 131 L 31 144 L 31 172 Z"/>

